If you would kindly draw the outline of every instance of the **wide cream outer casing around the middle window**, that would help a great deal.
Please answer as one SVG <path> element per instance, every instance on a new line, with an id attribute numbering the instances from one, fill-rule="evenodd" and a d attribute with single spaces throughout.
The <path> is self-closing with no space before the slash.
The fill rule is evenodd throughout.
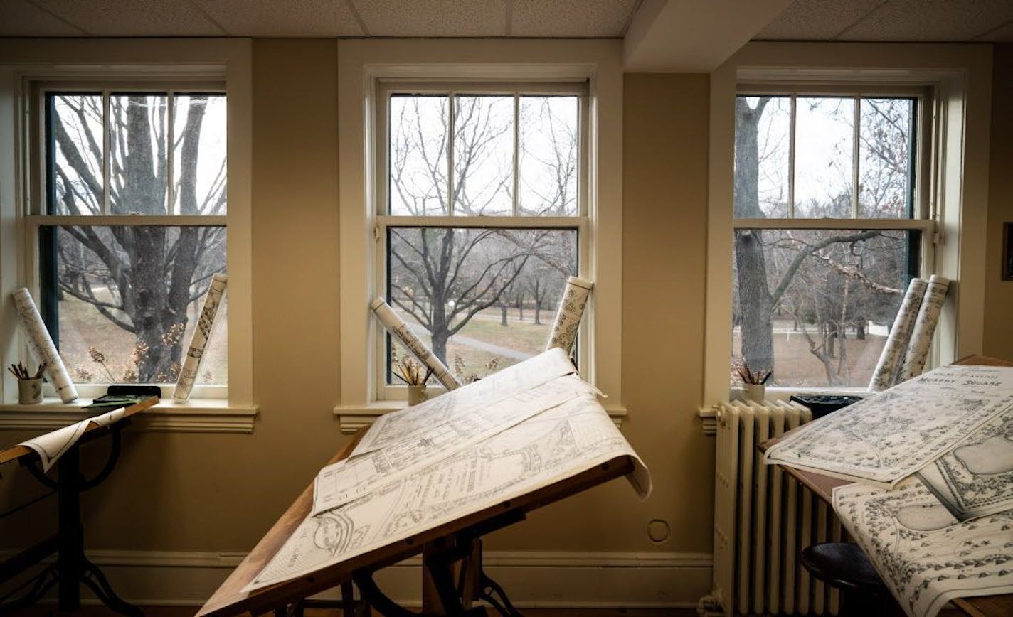
<path id="1" fill-rule="evenodd" d="M 595 291 L 585 316 L 581 374 L 609 399 L 606 409 L 625 415 L 621 395 L 622 349 L 622 47 L 620 41 L 534 40 L 339 40 L 339 219 L 341 393 L 334 414 L 341 430 L 353 432 L 387 411 L 400 409 L 396 386 L 384 385 L 380 329 L 369 302 L 383 289 L 381 225 L 403 225 L 414 217 L 382 216 L 378 184 L 384 178 L 376 152 L 381 119 L 377 98 L 385 82 L 433 84 L 587 82 L 587 213 L 577 227 L 580 273 Z M 462 62 L 468 58 L 468 62 Z M 483 217 L 473 225 L 489 227 Z M 543 227 L 548 218 L 509 217 Z M 575 217 L 575 218 L 580 218 Z M 418 217 L 424 225 L 460 225 L 463 217 Z M 453 221 L 452 221 L 453 219 Z M 505 221 L 504 221 L 505 223 Z M 555 224 L 556 222 L 552 222 Z M 372 245 L 372 246 L 371 246 Z M 378 248 L 377 245 L 380 245 Z"/>

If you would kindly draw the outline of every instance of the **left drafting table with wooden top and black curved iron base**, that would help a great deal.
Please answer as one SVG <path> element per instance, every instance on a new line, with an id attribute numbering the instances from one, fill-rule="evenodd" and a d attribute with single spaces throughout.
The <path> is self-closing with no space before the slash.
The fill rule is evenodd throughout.
<path id="1" fill-rule="evenodd" d="M 35 479 L 51 489 L 55 489 L 59 501 L 57 533 L 0 563 L 0 583 L 10 580 L 53 553 L 57 553 L 56 561 L 33 579 L 31 589 L 26 594 L 0 605 L 0 613 L 34 604 L 54 585 L 58 585 L 59 589 L 60 610 L 77 610 L 81 603 L 81 584 L 84 584 L 109 609 L 124 615 L 143 615 L 140 609 L 116 596 L 102 571 L 85 557 L 84 527 L 81 524 L 81 493 L 94 488 L 112 472 L 120 457 L 120 432 L 130 424 L 131 416 L 140 414 L 157 403 L 158 399 L 152 396 L 125 408 L 123 417 L 108 426 L 89 425 L 78 442 L 71 446 L 56 462 L 59 471 L 57 479 L 53 479 L 43 472 L 42 466 L 36 464 L 40 462 L 40 458 L 34 450 L 17 445 L 0 451 L 0 464 L 20 462 L 35 476 Z M 81 445 L 106 435 L 111 436 L 111 444 L 105 465 L 93 477 L 85 478 L 80 470 Z"/>

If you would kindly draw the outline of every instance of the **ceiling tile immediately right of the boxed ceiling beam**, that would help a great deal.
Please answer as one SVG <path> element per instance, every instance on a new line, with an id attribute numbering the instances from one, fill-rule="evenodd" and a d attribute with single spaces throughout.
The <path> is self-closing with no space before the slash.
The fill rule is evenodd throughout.
<path id="1" fill-rule="evenodd" d="M 830 40 L 861 19 L 883 0 L 796 0 L 754 38 Z"/>

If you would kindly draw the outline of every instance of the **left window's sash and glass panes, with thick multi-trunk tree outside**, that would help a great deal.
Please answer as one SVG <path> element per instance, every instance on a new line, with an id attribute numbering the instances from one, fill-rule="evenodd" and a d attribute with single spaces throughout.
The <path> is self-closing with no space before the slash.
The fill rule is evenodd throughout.
<path id="1" fill-rule="evenodd" d="M 54 341 L 85 395 L 87 383 L 171 384 L 200 298 L 225 270 L 225 95 L 37 92 L 47 213 L 27 216 L 26 233 Z M 226 321 L 220 311 L 198 379 L 219 387 L 202 395 L 224 393 Z"/>

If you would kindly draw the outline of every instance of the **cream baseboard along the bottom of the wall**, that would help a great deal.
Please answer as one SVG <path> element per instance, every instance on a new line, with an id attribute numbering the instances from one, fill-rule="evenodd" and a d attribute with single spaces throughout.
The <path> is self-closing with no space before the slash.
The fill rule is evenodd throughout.
<path id="1" fill-rule="evenodd" d="M 13 551 L 0 551 L 0 559 Z M 197 551 L 88 551 L 113 590 L 140 605 L 204 604 L 245 555 Z M 486 572 L 518 607 L 695 607 L 711 590 L 709 553 L 486 551 Z M 378 572 L 380 589 L 418 606 L 421 558 Z M 89 593 L 82 592 L 85 603 Z M 336 591 L 319 597 L 336 598 Z"/>

